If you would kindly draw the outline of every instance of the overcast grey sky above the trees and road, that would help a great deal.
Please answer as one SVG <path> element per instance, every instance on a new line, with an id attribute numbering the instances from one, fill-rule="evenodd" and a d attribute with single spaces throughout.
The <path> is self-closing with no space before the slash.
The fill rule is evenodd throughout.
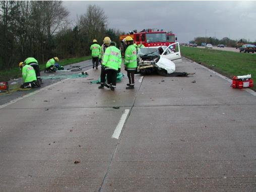
<path id="1" fill-rule="evenodd" d="M 178 42 L 194 37 L 230 37 L 256 41 L 256 1 L 64 1 L 70 20 L 101 7 L 108 28 L 124 32 L 158 28 L 172 30 Z"/>

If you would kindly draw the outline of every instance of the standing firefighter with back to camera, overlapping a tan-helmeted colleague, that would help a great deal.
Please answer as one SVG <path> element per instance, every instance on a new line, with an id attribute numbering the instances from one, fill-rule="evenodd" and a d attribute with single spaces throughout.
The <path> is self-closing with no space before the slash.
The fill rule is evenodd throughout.
<path id="1" fill-rule="evenodd" d="M 111 42 L 109 47 L 106 48 L 102 65 L 105 67 L 107 74 L 107 85 L 111 91 L 116 88 L 117 73 L 121 70 L 122 56 L 121 51 L 115 47 L 115 43 Z"/>

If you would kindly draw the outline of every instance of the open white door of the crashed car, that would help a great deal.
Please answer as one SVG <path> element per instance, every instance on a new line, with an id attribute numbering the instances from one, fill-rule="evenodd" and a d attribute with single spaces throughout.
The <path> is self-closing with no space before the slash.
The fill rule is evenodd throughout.
<path id="1" fill-rule="evenodd" d="M 173 50 L 173 47 L 175 47 L 175 50 Z M 172 43 L 170 44 L 167 49 L 161 54 L 163 57 L 173 61 L 174 63 L 177 61 L 181 61 L 181 55 L 180 55 L 180 48 L 179 43 Z"/>

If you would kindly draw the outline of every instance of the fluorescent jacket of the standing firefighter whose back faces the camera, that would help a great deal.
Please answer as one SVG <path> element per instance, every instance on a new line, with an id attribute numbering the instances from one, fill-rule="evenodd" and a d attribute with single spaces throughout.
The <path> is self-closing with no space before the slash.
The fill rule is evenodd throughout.
<path id="1" fill-rule="evenodd" d="M 107 47 L 102 62 L 102 65 L 105 66 L 105 69 L 111 68 L 117 71 L 118 68 L 121 68 L 121 62 L 121 51 L 115 46 Z"/>

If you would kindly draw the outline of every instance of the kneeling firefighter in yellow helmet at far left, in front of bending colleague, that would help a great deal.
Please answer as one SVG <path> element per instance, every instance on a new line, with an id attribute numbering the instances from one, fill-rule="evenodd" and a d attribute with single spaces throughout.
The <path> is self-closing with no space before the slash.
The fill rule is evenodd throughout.
<path id="1" fill-rule="evenodd" d="M 36 73 L 32 66 L 26 65 L 25 62 L 20 62 L 19 67 L 22 70 L 22 78 L 24 83 L 21 85 L 21 88 L 32 88 L 40 87 L 36 79 Z"/>

